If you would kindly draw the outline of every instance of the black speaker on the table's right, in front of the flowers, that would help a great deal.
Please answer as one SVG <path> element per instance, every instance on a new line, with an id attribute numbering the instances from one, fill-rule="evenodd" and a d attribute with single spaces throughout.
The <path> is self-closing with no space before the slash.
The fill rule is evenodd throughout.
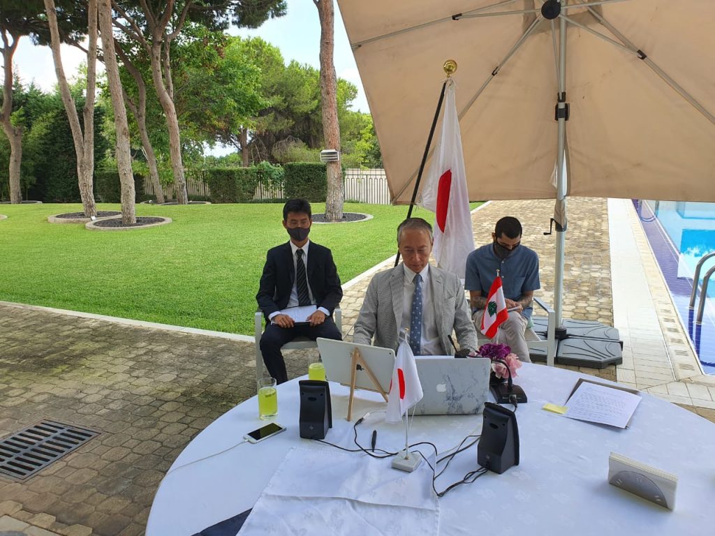
<path id="1" fill-rule="evenodd" d="M 482 436 L 477 446 L 477 463 L 500 475 L 519 465 L 519 430 L 516 415 L 492 402 L 484 405 Z"/>

